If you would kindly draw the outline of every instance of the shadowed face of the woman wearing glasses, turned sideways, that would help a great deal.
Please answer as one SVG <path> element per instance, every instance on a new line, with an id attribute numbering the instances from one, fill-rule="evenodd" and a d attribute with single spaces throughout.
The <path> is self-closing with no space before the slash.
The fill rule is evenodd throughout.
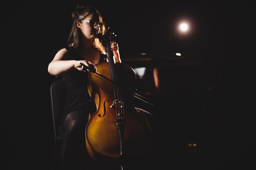
<path id="1" fill-rule="evenodd" d="M 81 29 L 81 32 L 86 39 L 93 40 L 94 38 L 97 37 L 97 34 L 99 33 L 101 28 L 97 24 L 93 26 L 92 21 L 91 23 L 89 23 L 90 20 L 93 20 L 96 23 L 98 23 L 99 17 L 91 14 L 88 17 L 83 18 L 82 21 L 77 22 L 76 26 Z"/>

